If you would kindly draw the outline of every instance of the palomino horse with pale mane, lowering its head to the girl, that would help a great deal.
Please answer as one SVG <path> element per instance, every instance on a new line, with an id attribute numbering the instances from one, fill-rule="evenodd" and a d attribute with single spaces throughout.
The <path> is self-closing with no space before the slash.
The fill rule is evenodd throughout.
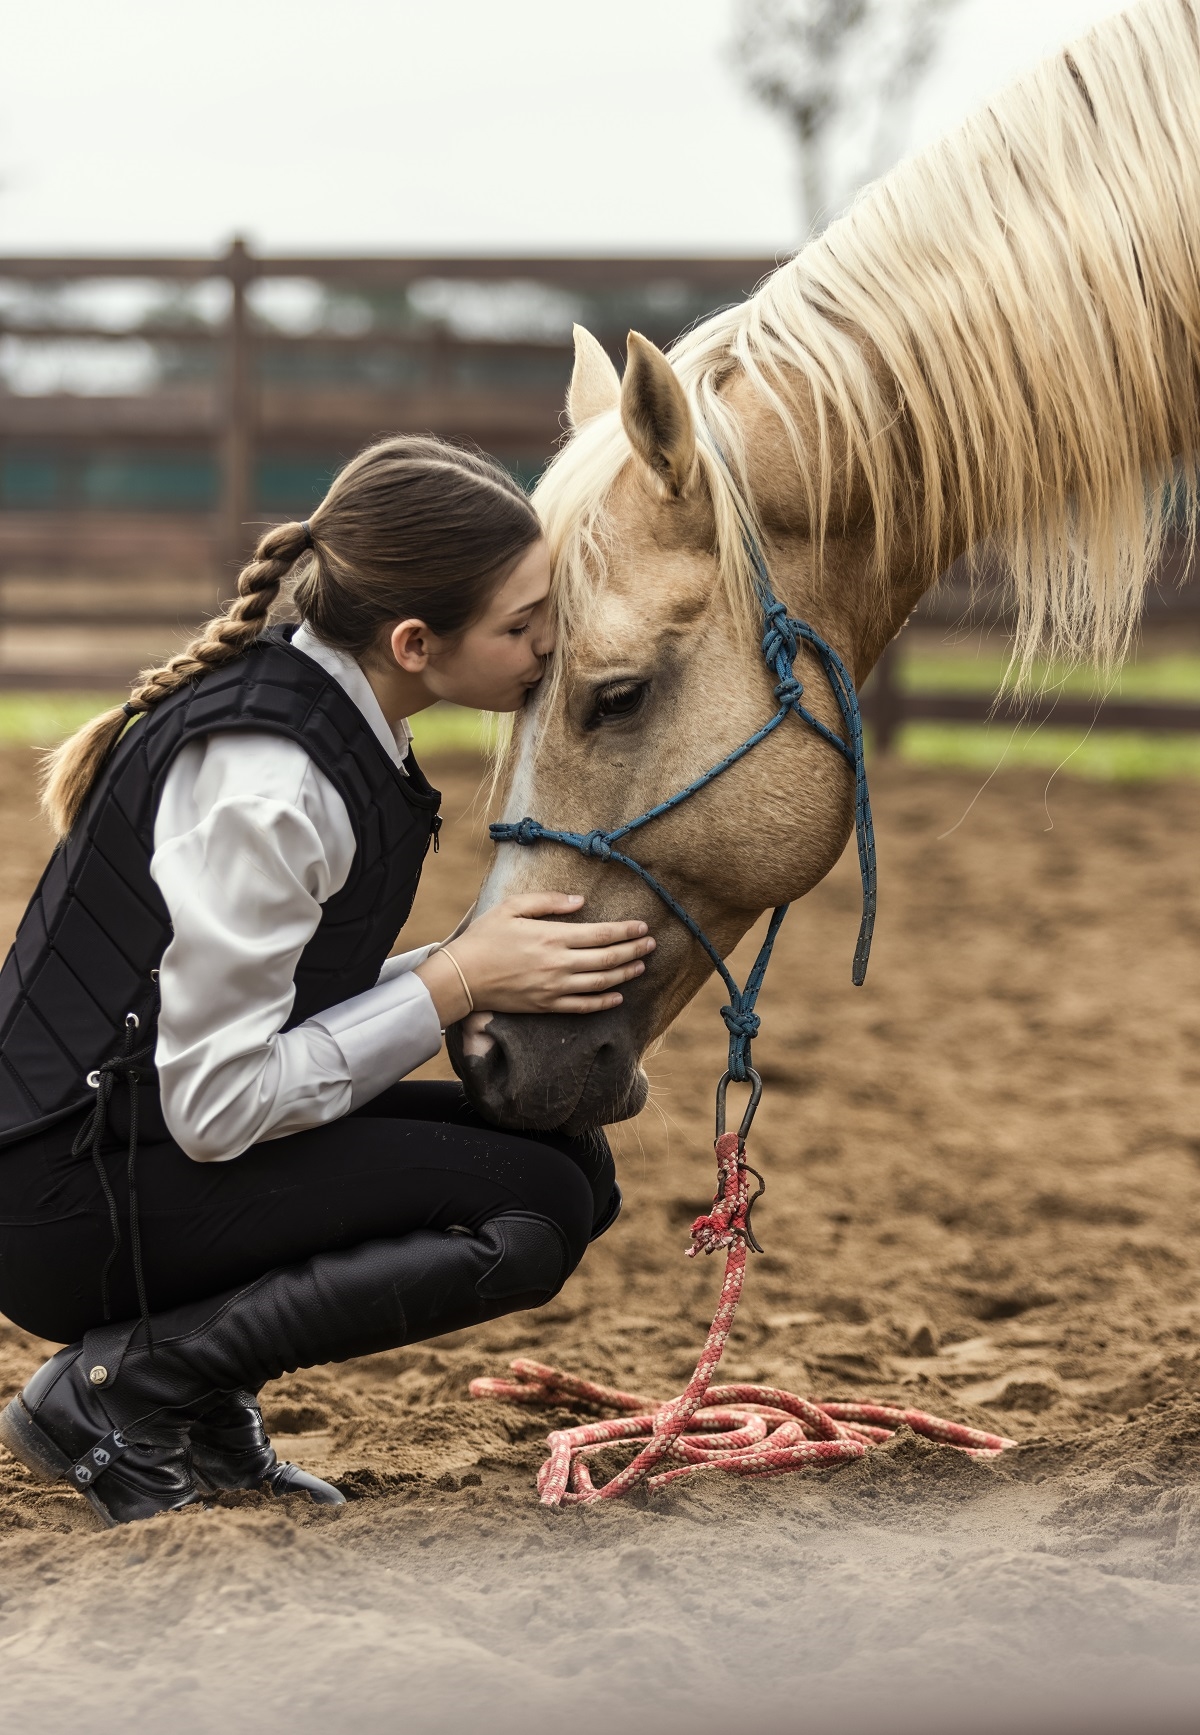
<path id="1" fill-rule="evenodd" d="M 988 543 L 1016 661 L 1115 663 L 1200 453 L 1200 7 L 1146 0 L 900 165 L 744 305 L 624 380 L 577 333 L 571 441 L 538 489 L 555 666 L 520 720 L 505 819 L 609 829 L 692 782 L 775 708 L 740 531 L 858 684 L 921 593 Z M 723 455 L 723 460 L 716 455 Z M 818 661 L 806 704 L 841 718 Z M 841 755 L 789 720 L 631 854 L 728 953 L 850 833 Z M 475 1015 L 451 1038 L 501 1124 L 635 1114 L 640 1057 L 711 970 L 624 869 L 501 845 L 482 906 L 586 894 L 657 937 L 624 1003 Z M 846 935 L 850 947 L 851 935 Z"/>

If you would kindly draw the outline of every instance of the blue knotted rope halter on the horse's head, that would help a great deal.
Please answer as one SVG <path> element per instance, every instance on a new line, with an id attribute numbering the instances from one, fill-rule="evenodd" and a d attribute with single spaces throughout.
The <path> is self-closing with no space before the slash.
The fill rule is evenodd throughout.
<path id="1" fill-rule="evenodd" d="M 775 949 L 775 940 L 779 930 L 784 925 L 784 916 L 789 906 L 780 904 L 770 920 L 766 928 L 766 939 L 763 940 L 754 966 L 746 979 L 746 987 L 739 989 L 737 982 L 730 975 L 730 970 L 718 953 L 718 949 L 709 940 L 708 933 L 701 925 L 688 916 L 687 909 L 671 897 L 668 888 L 654 878 L 654 874 L 635 861 L 631 855 L 624 855 L 616 845 L 621 838 L 628 838 L 633 831 L 640 831 L 642 826 L 649 826 L 652 819 L 659 819 L 662 814 L 669 814 L 671 809 L 680 807 L 688 796 L 695 795 L 699 789 L 706 789 L 721 772 L 728 770 L 730 765 L 737 765 L 740 758 L 756 748 L 760 741 L 766 741 L 773 734 L 786 717 L 794 713 L 801 722 L 815 729 L 822 741 L 827 741 L 831 748 L 836 748 L 845 760 L 853 765 L 855 772 L 855 836 L 858 840 L 858 871 L 862 874 L 862 921 L 858 925 L 858 944 L 855 946 L 855 963 L 853 963 L 853 980 L 855 987 L 862 987 L 867 975 L 867 959 L 871 958 L 871 935 L 876 925 L 876 833 L 871 819 L 871 796 L 867 793 L 867 767 L 862 751 L 862 711 L 858 710 L 858 694 L 855 692 L 855 684 L 850 678 L 846 665 L 841 661 L 838 652 L 831 644 L 827 644 L 820 633 L 813 632 L 805 621 L 794 619 L 784 604 L 775 597 L 772 590 L 770 573 L 766 569 L 766 560 L 758 538 L 749 526 L 742 527 L 742 536 L 746 540 L 746 552 L 749 553 L 751 564 L 754 567 L 754 586 L 758 590 L 758 600 L 763 607 L 763 659 L 766 668 L 775 675 L 775 699 L 779 710 L 756 729 L 739 748 L 727 753 L 723 760 L 702 772 L 687 789 L 680 789 L 678 795 L 668 796 L 666 802 L 659 802 L 657 807 L 647 809 L 645 814 L 638 814 L 636 819 L 628 819 L 623 826 L 614 826 L 612 831 L 550 831 L 546 826 L 539 826 L 536 819 L 518 819 L 517 822 L 503 822 L 491 828 L 492 841 L 496 843 L 564 843 L 567 848 L 579 850 L 581 855 L 591 855 L 597 861 L 617 862 L 621 868 L 628 868 L 635 873 L 638 880 L 650 887 L 657 897 L 662 899 L 671 914 L 683 923 L 687 932 L 697 940 L 713 961 L 713 968 L 720 973 L 725 987 L 728 989 L 728 1005 L 721 1006 L 721 1017 L 728 1027 L 728 1077 L 737 1083 L 744 1083 L 747 1077 L 758 1086 L 758 1074 L 751 1067 L 751 1043 L 758 1036 L 760 1018 L 754 1012 L 754 1003 L 758 1001 L 758 992 L 763 985 L 763 977 L 766 975 L 766 966 Z M 838 701 L 838 710 L 841 711 L 846 739 L 836 736 L 832 729 L 827 729 L 818 717 L 801 703 L 805 687 L 796 675 L 796 656 L 799 654 L 799 645 L 806 644 L 820 658 L 820 665 L 825 671 L 825 678 L 834 691 Z M 723 1081 L 725 1083 L 725 1081 Z M 723 1107 L 723 1083 L 721 1083 L 721 1107 Z M 747 1121 L 758 1105 L 758 1088 L 747 1110 Z M 742 1131 L 746 1131 L 746 1123 L 742 1123 Z"/>

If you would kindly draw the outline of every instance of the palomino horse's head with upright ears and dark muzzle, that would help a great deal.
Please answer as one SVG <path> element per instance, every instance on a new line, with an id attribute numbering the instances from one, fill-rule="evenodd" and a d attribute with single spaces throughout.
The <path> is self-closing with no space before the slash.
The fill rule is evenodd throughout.
<path id="1" fill-rule="evenodd" d="M 768 406 L 739 403 L 737 387 L 730 413 L 756 420 L 746 486 L 777 593 L 862 678 L 886 640 L 862 585 L 871 557 L 862 501 L 843 500 L 845 534 L 829 543 L 818 581 L 812 540 L 798 522 L 787 441 L 766 435 Z M 577 331 L 569 415 L 574 437 L 538 496 L 558 574 L 560 640 L 555 668 L 513 736 L 503 817 L 591 833 L 687 788 L 779 701 L 761 652 L 761 606 L 742 571 L 735 488 L 668 359 L 631 333 L 621 383 L 595 338 Z M 820 663 L 803 647 L 796 675 L 805 704 L 841 732 Z M 621 847 L 725 956 L 761 911 L 803 895 L 829 871 L 851 807 L 843 756 L 787 718 Z M 610 866 L 603 850 L 583 857 L 553 843 L 505 843 L 479 907 L 550 888 L 583 892 L 581 920 L 645 920 L 657 940 L 647 973 L 612 1012 L 479 1013 L 451 1032 L 451 1057 L 491 1119 L 574 1131 L 642 1109 L 642 1055 L 713 965 L 659 897 Z"/>

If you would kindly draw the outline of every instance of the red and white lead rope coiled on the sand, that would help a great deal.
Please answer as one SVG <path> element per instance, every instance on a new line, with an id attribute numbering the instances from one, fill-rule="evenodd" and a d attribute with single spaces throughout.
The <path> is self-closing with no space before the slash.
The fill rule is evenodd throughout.
<path id="1" fill-rule="evenodd" d="M 725 1247 L 725 1280 L 695 1372 L 678 1398 L 659 1402 L 616 1391 L 524 1359 L 510 1364 L 515 1379 L 472 1379 L 473 1398 L 508 1398 L 517 1404 L 569 1400 L 624 1412 L 612 1421 L 557 1428 L 548 1437 L 550 1457 L 538 1471 L 543 1506 L 607 1501 L 640 1482 L 657 1489 L 697 1470 L 780 1476 L 806 1464 L 862 1457 L 872 1445 L 890 1440 L 900 1426 L 954 1445 L 971 1457 L 999 1457 L 1016 1444 L 997 1433 L 982 1433 L 978 1428 L 926 1416 L 924 1411 L 893 1409 L 890 1404 L 813 1404 L 775 1386 L 711 1386 L 742 1294 L 751 1237 L 746 1150 L 737 1133 L 721 1133 L 716 1140 L 716 1176 L 713 1209 L 708 1216 L 697 1216 L 692 1225 L 688 1256 Z M 645 1445 L 624 1470 L 597 1487 L 588 1457 L 617 1440 L 645 1440 Z"/>

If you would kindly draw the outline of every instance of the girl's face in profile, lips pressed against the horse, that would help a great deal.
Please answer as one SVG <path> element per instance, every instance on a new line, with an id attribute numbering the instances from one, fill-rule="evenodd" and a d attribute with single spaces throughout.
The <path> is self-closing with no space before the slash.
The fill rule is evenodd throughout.
<path id="1" fill-rule="evenodd" d="M 550 550 L 538 540 L 460 638 L 439 638 L 425 628 L 421 678 L 428 703 L 520 710 L 553 651 L 548 595 Z"/>

